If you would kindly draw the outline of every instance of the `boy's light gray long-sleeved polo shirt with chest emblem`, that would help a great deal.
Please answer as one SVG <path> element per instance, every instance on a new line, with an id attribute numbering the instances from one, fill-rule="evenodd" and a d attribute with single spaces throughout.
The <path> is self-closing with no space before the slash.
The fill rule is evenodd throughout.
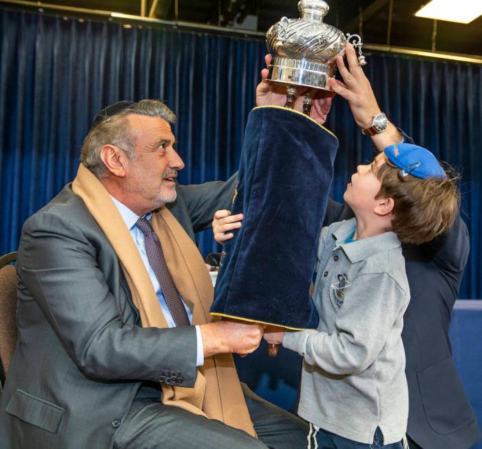
<path id="1" fill-rule="evenodd" d="M 400 441 L 408 419 L 401 342 L 410 300 L 401 244 L 392 232 L 346 244 L 356 219 L 322 229 L 313 300 L 316 330 L 285 333 L 304 357 L 298 413 L 341 437 Z"/>

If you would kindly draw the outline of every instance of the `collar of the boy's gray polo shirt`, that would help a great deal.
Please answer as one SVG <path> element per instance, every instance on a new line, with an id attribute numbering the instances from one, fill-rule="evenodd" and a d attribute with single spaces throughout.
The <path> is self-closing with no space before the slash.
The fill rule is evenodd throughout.
<path id="1" fill-rule="evenodd" d="M 363 238 L 356 242 L 345 243 L 356 226 L 357 219 L 352 218 L 351 220 L 342 222 L 342 224 L 331 233 L 335 239 L 335 249 L 341 248 L 352 263 L 361 262 L 380 251 L 388 251 L 401 246 L 397 234 L 392 231 L 384 232 L 378 236 Z"/>

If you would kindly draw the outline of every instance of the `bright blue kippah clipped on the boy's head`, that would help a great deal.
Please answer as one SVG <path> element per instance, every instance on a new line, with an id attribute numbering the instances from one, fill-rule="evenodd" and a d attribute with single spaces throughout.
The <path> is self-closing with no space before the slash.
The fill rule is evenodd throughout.
<path id="1" fill-rule="evenodd" d="M 417 176 L 426 179 L 437 176 L 446 178 L 446 173 L 437 158 L 426 148 L 411 143 L 397 143 L 384 149 L 390 162 L 401 169 L 401 176 Z"/>

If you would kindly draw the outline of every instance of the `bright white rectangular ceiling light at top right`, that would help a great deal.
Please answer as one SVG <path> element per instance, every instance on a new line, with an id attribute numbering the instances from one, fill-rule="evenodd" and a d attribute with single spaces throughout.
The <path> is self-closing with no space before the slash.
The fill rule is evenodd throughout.
<path id="1" fill-rule="evenodd" d="M 416 17 L 470 23 L 482 14 L 480 0 L 432 0 L 415 12 Z"/>

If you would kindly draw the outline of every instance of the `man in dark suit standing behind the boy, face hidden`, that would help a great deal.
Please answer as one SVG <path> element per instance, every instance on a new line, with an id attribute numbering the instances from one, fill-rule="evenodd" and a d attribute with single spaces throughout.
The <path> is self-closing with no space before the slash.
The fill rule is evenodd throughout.
<path id="1" fill-rule="evenodd" d="M 378 151 L 389 145 L 412 139 L 390 122 L 384 129 L 370 129 L 380 114 L 375 95 L 351 45 L 346 46 L 349 70 L 343 60 L 337 66 L 344 83 L 331 80 L 331 87 L 344 97 L 357 125 L 372 134 Z M 262 76 L 266 78 L 266 70 Z M 271 103 L 282 101 L 277 92 L 264 83 L 258 90 L 271 96 Z M 259 93 L 258 93 L 259 95 Z M 324 226 L 353 218 L 349 207 L 328 200 Z M 242 216 L 218 211 L 213 232 L 218 242 L 232 237 Z M 419 246 L 403 245 L 406 273 L 410 285 L 410 303 L 404 315 L 402 340 L 406 351 L 406 377 L 409 393 L 408 441 L 411 449 L 464 449 L 481 439 L 481 431 L 465 396 L 455 368 L 448 325 L 457 299 L 463 269 L 468 259 L 468 230 L 461 218 L 441 238 Z"/>

